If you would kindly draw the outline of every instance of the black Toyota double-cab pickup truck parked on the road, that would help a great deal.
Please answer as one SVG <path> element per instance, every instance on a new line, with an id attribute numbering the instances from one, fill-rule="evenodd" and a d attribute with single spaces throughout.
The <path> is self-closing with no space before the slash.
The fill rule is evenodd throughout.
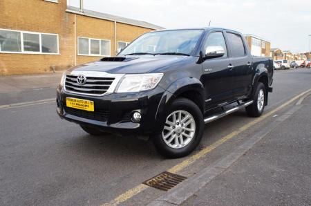
<path id="1" fill-rule="evenodd" d="M 159 30 L 66 71 L 57 113 L 91 135 L 150 137 L 159 153 L 178 158 L 194 151 L 206 123 L 242 108 L 260 116 L 272 76 L 272 59 L 252 57 L 240 32 Z"/>

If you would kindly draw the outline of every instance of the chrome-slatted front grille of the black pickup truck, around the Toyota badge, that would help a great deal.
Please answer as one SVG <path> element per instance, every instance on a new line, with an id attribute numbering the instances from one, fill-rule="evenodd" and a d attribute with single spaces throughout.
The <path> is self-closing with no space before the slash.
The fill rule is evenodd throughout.
<path id="1" fill-rule="evenodd" d="M 104 95 L 113 83 L 113 77 L 86 77 L 85 84 L 77 83 L 76 75 L 66 75 L 66 91 L 84 93 L 86 95 Z"/>

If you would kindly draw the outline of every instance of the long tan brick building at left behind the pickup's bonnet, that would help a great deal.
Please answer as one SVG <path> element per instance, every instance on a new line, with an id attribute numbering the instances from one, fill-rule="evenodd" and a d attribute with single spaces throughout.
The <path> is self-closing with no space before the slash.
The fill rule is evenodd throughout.
<path id="1" fill-rule="evenodd" d="M 145 21 L 67 6 L 66 0 L 1 0 L 0 75 L 63 70 L 113 56 L 117 48 L 158 29 Z"/>

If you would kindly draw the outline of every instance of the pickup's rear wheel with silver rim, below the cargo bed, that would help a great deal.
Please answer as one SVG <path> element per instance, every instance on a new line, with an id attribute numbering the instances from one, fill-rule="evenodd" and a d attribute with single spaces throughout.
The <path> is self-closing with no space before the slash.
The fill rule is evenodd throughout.
<path id="1" fill-rule="evenodd" d="M 263 110 L 265 109 L 266 95 L 267 91 L 265 90 L 265 85 L 262 82 L 258 82 L 253 96 L 254 102 L 245 108 L 247 115 L 257 118 L 263 113 Z"/>

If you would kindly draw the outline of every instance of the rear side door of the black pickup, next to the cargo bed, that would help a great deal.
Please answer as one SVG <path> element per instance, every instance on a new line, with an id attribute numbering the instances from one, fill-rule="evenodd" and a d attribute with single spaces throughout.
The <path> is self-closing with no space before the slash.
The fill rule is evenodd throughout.
<path id="1" fill-rule="evenodd" d="M 234 98 L 242 97 L 252 85 L 252 56 L 248 54 L 243 37 L 235 32 L 226 32 L 229 42 L 228 75 Z"/>

